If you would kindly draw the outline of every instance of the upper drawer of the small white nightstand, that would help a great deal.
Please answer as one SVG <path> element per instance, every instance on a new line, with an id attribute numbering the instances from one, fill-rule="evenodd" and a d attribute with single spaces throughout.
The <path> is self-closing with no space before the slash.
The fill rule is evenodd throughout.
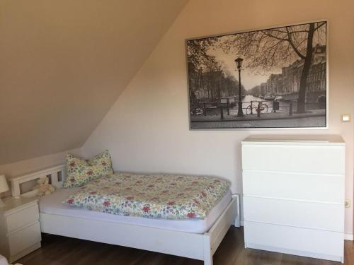
<path id="1" fill-rule="evenodd" d="M 12 232 L 16 229 L 23 228 L 23 226 L 38 221 L 38 204 L 33 204 L 28 208 L 21 209 L 15 213 L 6 216 L 7 231 Z"/>

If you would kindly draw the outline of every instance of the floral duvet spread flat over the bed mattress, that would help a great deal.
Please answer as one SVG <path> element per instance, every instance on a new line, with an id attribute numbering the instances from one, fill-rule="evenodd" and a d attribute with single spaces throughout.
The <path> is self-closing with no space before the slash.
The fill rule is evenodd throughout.
<path id="1" fill-rule="evenodd" d="M 229 186 L 216 177 L 118 173 L 88 182 L 64 203 L 125 216 L 204 219 Z"/>

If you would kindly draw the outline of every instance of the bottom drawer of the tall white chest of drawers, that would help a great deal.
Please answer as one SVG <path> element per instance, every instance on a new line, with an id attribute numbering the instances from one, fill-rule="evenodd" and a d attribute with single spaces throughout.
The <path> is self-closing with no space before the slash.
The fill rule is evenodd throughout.
<path id="1" fill-rule="evenodd" d="M 309 257 L 312 257 L 309 253 L 343 257 L 343 232 L 244 221 L 244 233 L 246 247 L 267 246 L 268 249 L 285 249 L 291 250 L 292 253 L 303 252 L 304 256 Z"/>

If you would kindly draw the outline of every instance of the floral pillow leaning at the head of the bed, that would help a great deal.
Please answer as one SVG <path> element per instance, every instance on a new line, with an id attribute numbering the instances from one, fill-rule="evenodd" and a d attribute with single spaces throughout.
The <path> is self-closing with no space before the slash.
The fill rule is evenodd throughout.
<path id="1" fill-rule="evenodd" d="M 80 187 L 92 179 L 113 174 L 108 150 L 90 160 L 83 160 L 68 153 L 66 160 L 67 179 L 63 183 L 64 188 Z"/>

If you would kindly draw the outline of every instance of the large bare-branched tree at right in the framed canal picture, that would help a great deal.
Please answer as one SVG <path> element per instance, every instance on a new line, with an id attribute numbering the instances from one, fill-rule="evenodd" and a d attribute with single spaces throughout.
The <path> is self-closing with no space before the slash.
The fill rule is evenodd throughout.
<path id="1" fill-rule="evenodd" d="M 241 55 L 246 67 L 261 73 L 304 60 L 299 84 L 297 112 L 305 112 L 307 76 L 312 63 L 314 38 L 326 41 L 326 22 L 308 23 L 219 37 L 219 47 L 228 54 Z"/>

